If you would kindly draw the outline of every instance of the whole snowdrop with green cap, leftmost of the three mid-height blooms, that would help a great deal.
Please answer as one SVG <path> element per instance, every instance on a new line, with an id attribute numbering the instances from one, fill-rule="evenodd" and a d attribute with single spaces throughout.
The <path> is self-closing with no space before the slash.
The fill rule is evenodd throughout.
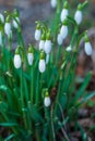
<path id="1" fill-rule="evenodd" d="M 19 48 L 15 50 L 13 63 L 14 63 L 15 68 L 20 68 L 21 65 L 22 65 L 22 60 L 21 60 L 21 56 L 20 56 Z"/>

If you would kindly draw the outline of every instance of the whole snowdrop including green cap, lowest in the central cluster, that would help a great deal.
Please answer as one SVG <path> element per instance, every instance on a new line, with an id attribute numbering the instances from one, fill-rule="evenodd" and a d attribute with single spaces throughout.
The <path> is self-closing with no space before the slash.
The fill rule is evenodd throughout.
<path id="1" fill-rule="evenodd" d="M 40 73 L 46 70 L 45 53 L 43 51 L 40 52 L 38 68 Z"/>

